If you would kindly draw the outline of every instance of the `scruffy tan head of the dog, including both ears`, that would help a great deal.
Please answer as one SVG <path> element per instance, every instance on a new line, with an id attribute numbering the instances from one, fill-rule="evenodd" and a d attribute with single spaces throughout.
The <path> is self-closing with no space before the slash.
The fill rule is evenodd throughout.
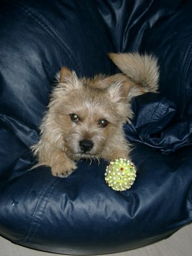
<path id="1" fill-rule="evenodd" d="M 127 102 L 130 81 L 116 76 L 78 79 L 75 72 L 61 68 L 49 109 L 71 158 L 99 158 L 112 138 L 123 133 L 123 123 L 132 115 Z"/>

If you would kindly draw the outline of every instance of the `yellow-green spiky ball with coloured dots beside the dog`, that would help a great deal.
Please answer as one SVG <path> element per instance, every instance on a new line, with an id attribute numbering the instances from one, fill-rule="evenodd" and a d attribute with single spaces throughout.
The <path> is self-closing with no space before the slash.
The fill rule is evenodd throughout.
<path id="1" fill-rule="evenodd" d="M 136 178 L 136 169 L 127 159 L 115 159 L 106 168 L 105 180 L 109 187 L 116 191 L 125 191 L 131 188 Z"/>

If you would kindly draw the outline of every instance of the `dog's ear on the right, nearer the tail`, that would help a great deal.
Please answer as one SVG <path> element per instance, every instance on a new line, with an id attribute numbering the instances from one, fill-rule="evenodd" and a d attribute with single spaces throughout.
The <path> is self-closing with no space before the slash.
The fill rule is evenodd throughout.
<path id="1" fill-rule="evenodd" d="M 115 82 L 114 84 L 108 85 L 106 89 L 114 103 L 124 103 L 127 101 L 127 97 L 131 89 L 131 82 Z"/>

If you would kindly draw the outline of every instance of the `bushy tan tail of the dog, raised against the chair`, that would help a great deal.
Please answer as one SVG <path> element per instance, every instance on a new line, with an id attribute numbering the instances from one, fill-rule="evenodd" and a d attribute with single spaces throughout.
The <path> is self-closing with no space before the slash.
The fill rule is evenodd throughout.
<path id="1" fill-rule="evenodd" d="M 140 85 L 145 92 L 158 90 L 158 64 L 153 55 L 140 55 L 139 53 L 108 53 L 112 62 L 130 80 Z"/>

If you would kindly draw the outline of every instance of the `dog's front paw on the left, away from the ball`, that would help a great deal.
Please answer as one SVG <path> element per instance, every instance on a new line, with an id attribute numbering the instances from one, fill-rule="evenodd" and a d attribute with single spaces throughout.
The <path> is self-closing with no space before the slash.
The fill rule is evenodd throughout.
<path id="1" fill-rule="evenodd" d="M 57 177 L 68 177 L 74 170 L 77 169 L 76 163 L 68 160 L 65 163 L 57 163 L 52 167 L 52 175 Z"/>

